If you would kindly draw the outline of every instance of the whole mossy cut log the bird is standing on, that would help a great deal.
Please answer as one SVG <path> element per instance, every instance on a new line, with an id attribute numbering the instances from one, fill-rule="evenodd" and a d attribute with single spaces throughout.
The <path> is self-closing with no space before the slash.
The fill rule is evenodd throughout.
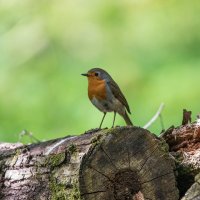
<path id="1" fill-rule="evenodd" d="M 0 144 L 0 199 L 177 200 L 174 166 L 166 143 L 137 127 Z"/>

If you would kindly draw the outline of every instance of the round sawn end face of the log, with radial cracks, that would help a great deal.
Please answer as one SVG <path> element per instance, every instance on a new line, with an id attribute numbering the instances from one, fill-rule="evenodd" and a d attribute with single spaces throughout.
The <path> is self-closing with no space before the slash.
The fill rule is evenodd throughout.
<path id="1" fill-rule="evenodd" d="M 88 200 L 178 199 L 173 162 L 144 129 L 118 129 L 90 149 L 81 165 L 81 195 Z M 101 181 L 97 181 L 101 180 Z"/>

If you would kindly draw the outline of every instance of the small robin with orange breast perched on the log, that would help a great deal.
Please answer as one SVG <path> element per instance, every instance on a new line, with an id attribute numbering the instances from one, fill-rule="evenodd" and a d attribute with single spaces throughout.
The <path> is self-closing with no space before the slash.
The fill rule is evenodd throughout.
<path id="1" fill-rule="evenodd" d="M 127 125 L 133 125 L 128 114 L 131 114 L 128 102 L 117 83 L 103 69 L 93 68 L 86 74 L 88 78 L 88 97 L 92 104 L 104 113 L 100 127 L 107 112 L 114 112 L 112 128 L 114 127 L 116 113 L 121 115 Z"/>

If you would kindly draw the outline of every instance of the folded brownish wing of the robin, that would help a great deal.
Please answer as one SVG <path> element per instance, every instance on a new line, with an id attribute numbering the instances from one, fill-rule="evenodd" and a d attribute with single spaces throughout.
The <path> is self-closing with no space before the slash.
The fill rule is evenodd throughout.
<path id="1" fill-rule="evenodd" d="M 117 98 L 126 107 L 127 111 L 131 114 L 128 102 L 117 83 L 114 80 L 111 80 L 108 82 L 108 84 L 110 85 L 111 91 L 115 98 Z"/>

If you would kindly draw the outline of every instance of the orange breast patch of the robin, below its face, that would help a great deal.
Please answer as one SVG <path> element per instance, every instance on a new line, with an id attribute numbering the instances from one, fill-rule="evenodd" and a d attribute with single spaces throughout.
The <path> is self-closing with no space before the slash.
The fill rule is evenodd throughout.
<path id="1" fill-rule="evenodd" d="M 106 98 L 106 83 L 104 80 L 88 78 L 88 97 L 92 100 L 94 97 L 98 100 Z"/>

